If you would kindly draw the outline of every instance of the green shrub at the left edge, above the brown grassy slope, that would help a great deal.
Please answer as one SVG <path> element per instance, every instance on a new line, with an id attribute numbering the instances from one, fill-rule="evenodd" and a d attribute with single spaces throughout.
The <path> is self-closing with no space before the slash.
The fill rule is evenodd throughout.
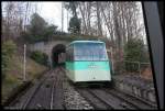
<path id="1" fill-rule="evenodd" d="M 15 54 L 16 45 L 13 41 L 9 40 L 2 43 L 2 77 L 6 77 L 6 71 L 10 68 L 11 58 Z"/>

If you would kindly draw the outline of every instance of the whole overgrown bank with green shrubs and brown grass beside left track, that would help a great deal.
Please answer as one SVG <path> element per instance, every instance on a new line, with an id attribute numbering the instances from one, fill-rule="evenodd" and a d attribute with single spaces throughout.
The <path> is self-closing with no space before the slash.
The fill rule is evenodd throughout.
<path id="1" fill-rule="evenodd" d="M 9 40 L 3 41 L 1 55 L 3 103 L 15 88 L 23 85 L 23 53 L 18 52 L 15 43 Z M 33 81 L 46 69 L 47 67 L 26 57 L 26 80 Z"/>

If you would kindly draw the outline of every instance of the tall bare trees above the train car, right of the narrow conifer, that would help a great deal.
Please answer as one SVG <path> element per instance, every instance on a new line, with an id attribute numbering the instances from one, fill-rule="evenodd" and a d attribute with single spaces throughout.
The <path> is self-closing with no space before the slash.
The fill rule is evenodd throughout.
<path id="1" fill-rule="evenodd" d="M 108 35 L 121 51 L 128 40 L 142 36 L 144 31 L 139 23 L 138 2 L 79 2 L 78 9 L 84 34 Z"/>

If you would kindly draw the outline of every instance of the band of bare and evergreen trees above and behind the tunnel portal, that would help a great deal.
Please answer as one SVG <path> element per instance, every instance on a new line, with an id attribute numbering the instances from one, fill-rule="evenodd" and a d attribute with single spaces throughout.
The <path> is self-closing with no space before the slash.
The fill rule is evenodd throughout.
<path id="1" fill-rule="evenodd" d="M 55 36 L 75 40 L 81 36 L 106 40 L 107 48 L 112 48 L 116 66 L 123 60 L 150 62 L 141 2 L 62 2 L 62 16 L 57 16 L 62 20 L 61 27 L 50 24 L 37 10 L 34 2 L 4 2 L 2 42 L 12 40 L 20 45 L 51 41 Z M 67 32 L 64 31 L 64 10 L 67 11 Z"/>

